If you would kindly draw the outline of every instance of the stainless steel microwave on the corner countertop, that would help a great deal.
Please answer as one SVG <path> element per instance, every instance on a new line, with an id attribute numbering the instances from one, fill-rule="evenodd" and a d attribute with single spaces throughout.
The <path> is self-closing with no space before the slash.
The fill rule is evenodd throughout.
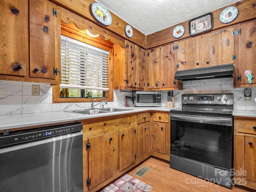
<path id="1" fill-rule="evenodd" d="M 137 107 L 161 106 L 161 92 L 159 91 L 134 91 L 132 101 Z"/>

